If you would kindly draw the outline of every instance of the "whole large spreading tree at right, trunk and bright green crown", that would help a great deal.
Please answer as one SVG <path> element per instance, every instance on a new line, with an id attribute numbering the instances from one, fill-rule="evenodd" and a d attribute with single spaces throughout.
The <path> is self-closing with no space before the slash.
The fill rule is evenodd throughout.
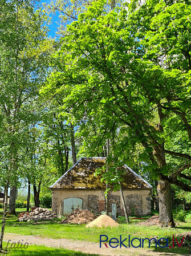
<path id="1" fill-rule="evenodd" d="M 179 25 L 180 21 L 183 25 L 188 13 L 175 15 L 176 3 L 170 9 L 150 1 L 141 7 L 132 2 L 128 8 L 107 13 L 105 3 L 92 3 L 86 13 L 79 15 L 78 21 L 68 26 L 57 56 L 59 72 L 52 73 L 48 90 L 63 93 L 66 98 L 64 109 L 70 109 L 70 115 L 79 125 L 99 121 L 100 117 L 103 129 L 105 127 L 105 132 L 109 133 L 106 116 L 119 126 L 125 125 L 124 135 L 127 133 L 128 136 L 124 136 L 124 141 L 128 138 L 129 148 L 135 144 L 143 145 L 141 157 L 159 178 L 160 223 L 173 227 L 170 184 L 191 191 L 186 182 L 190 176 L 185 174 L 191 166 L 189 49 L 185 58 L 181 53 L 188 68 L 181 68 L 181 61 L 178 68 L 175 61 L 166 67 L 162 56 L 170 61 L 176 54 L 170 52 L 170 47 L 169 58 L 162 52 L 167 48 L 169 37 L 173 38 L 168 29 L 172 18 L 165 25 L 168 36 L 160 36 L 164 31 L 160 22 L 167 22 L 162 16 L 164 10 L 167 16 L 171 11 L 173 22 Z M 185 10 L 190 9 L 186 3 L 180 5 L 185 5 Z M 149 15 L 153 15 L 150 23 Z M 184 18 L 180 19 L 180 16 Z M 190 21 L 186 20 L 185 37 L 189 42 Z M 155 37 L 151 37 L 152 33 Z M 147 35 L 148 39 L 145 39 Z M 180 40 L 176 47 L 185 48 L 182 44 Z M 160 56 L 158 62 L 151 58 L 155 48 Z M 176 58 L 180 59 L 175 55 L 174 60 Z M 178 131 L 184 133 L 181 147 Z"/>

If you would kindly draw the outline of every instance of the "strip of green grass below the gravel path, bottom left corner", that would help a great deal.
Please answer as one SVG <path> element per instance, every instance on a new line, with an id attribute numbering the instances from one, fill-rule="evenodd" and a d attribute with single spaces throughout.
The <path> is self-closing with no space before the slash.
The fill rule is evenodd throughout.
<path id="1" fill-rule="evenodd" d="M 6 245 L 4 245 L 5 247 Z M 8 247 L 9 248 L 9 247 Z M 52 248 L 46 246 L 31 245 L 27 249 L 8 249 L 8 256 L 99 256 L 97 254 L 86 254 L 78 251 L 66 250 L 63 248 Z M 6 255 L 1 254 L 0 255 Z"/>

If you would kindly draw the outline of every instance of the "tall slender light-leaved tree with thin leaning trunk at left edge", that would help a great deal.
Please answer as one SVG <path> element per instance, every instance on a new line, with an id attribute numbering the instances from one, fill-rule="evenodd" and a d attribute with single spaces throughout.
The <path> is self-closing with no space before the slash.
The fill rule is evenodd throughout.
<path id="1" fill-rule="evenodd" d="M 0 113 L 1 152 L 5 170 L 5 207 L 0 249 L 6 221 L 7 190 L 17 182 L 23 128 L 34 123 L 33 109 L 39 84 L 45 79 L 51 40 L 46 15 L 30 1 L 1 1 L 0 10 Z"/>

